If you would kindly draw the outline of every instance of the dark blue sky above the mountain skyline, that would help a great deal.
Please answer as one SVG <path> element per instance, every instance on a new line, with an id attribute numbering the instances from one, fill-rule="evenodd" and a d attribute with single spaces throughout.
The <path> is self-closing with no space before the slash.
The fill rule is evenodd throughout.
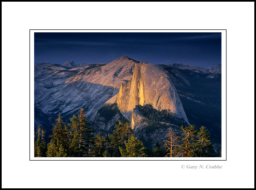
<path id="1" fill-rule="evenodd" d="M 221 33 L 34 33 L 35 63 L 109 63 L 119 57 L 155 64 L 221 64 Z"/>

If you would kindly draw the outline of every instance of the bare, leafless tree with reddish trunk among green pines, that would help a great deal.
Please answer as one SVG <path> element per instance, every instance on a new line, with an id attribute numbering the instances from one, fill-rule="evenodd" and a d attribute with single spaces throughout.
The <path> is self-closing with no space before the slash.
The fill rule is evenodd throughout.
<path id="1" fill-rule="evenodd" d="M 166 136 L 167 140 L 164 140 L 164 147 L 166 148 L 167 154 L 165 157 L 177 157 L 179 136 L 176 135 L 174 130 L 169 130 Z"/>

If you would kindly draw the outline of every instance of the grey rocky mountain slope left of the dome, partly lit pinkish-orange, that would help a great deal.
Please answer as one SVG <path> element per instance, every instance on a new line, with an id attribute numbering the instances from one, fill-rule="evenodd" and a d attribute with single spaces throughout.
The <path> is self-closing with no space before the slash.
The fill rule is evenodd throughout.
<path id="1" fill-rule="evenodd" d="M 87 117 L 93 117 L 118 93 L 121 83 L 131 78 L 135 62 L 120 57 L 107 65 L 76 68 L 35 64 L 35 105 L 52 117 L 61 114 L 66 120 L 81 107 L 87 111 Z"/>

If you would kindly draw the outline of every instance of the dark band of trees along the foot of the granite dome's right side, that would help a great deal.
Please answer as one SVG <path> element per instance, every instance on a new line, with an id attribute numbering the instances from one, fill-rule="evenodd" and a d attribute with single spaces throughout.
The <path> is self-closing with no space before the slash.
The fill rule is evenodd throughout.
<path id="1" fill-rule="evenodd" d="M 140 113 L 145 116 L 145 122 L 166 122 L 174 125 L 186 125 L 183 119 L 175 117 L 175 115 L 167 110 L 158 111 L 154 109 L 152 105 L 147 104 L 144 106 L 138 105 Z"/>

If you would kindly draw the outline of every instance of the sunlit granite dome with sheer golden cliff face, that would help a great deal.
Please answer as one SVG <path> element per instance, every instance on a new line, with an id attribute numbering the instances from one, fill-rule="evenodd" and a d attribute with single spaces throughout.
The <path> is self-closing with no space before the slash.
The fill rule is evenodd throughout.
<path id="1" fill-rule="evenodd" d="M 117 105 L 132 120 L 135 106 L 146 104 L 157 110 L 168 110 L 189 123 L 177 90 L 164 69 L 151 63 L 135 63 L 131 80 L 122 83 L 119 89 Z"/>

